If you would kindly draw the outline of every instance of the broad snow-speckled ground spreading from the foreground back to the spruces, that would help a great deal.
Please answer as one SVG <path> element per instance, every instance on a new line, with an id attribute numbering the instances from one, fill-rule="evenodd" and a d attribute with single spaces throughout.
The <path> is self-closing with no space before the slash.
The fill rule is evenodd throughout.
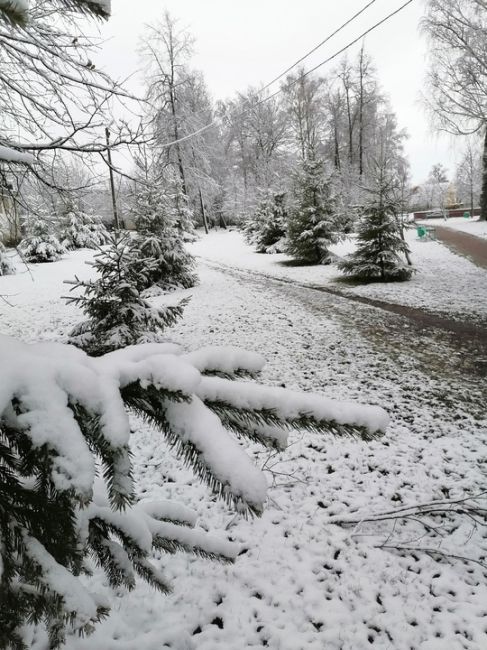
<path id="1" fill-rule="evenodd" d="M 210 257 L 213 242 L 218 263 L 270 275 L 278 258 L 244 254 L 238 241 L 236 233 L 217 233 L 194 249 Z M 232 257 L 238 250 L 241 256 Z M 438 255 L 444 263 L 446 253 Z M 0 294 L 9 294 L 14 305 L 0 305 L 0 331 L 24 340 L 63 338 L 79 318 L 60 299 L 68 288 L 63 280 L 89 273 L 84 262 L 90 256 L 74 252 L 33 266 L 32 276 L 0 277 Z M 392 424 L 382 440 L 369 444 L 295 433 L 279 454 L 250 445 L 271 488 L 262 518 L 246 521 L 215 501 L 157 434 L 134 420 L 139 495 L 196 509 L 200 526 L 240 542 L 246 552 L 233 566 L 161 556 L 157 562 L 173 579 L 174 593 L 162 596 L 139 583 L 131 593 L 111 594 L 110 618 L 91 637 L 70 637 L 68 650 L 486 648 L 485 567 L 379 548 L 402 540 L 485 565 L 485 529 L 467 521 L 453 537 L 441 538 L 413 523 L 352 529 L 329 523 L 337 515 L 485 489 L 487 395 L 477 372 L 482 366 L 476 366 L 482 359 L 467 341 L 460 347 L 440 332 L 415 331 L 401 317 L 366 305 L 199 267 L 200 284 L 171 338 L 187 349 L 230 344 L 256 350 L 268 359 L 262 381 L 380 404 Z M 326 267 L 276 268 L 310 283 L 321 282 L 319 274 L 333 275 Z M 310 270 L 316 277 L 306 276 Z M 451 289 L 450 302 L 457 300 L 464 297 Z M 93 582 L 109 593 L 100 574 Z M 31 647 L 45 650 L 44 642 L 38 634 Z"/>

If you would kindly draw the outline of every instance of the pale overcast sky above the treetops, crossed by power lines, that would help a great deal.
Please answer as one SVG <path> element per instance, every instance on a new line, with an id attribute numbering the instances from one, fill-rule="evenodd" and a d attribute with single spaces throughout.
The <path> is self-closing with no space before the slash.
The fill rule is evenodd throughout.
<path id="1" fill-rule="evenodd" d="M 376 0 L 309 57 L 305 67 L 326 59 L 403 2 Z M 214 99 L 224 99 L 275 78 L 365 4 L 367 0 L 112 0 L 112 18 L 102 28 L 109 40 L 97 64 L 118 78 L 139 69 L 137 45 L 144 26 L 168 9 L 196 39 L 193 67 L 203 71 Z M 426 43 L 419 30 L 423 6 L 423 0 L 414 0 L 365 39 L 383 91 L 399 125 L 409 133 L 406 151 L 414 182 L 425 180 L 437 162 L 452 175 L 455 162 L 451 139 L 431 132 L 421 105 L 426 65 Z M 351 57 L 359 47 L 350 48 Z M 326 74 L 333 65 L 320 72 Z"/>

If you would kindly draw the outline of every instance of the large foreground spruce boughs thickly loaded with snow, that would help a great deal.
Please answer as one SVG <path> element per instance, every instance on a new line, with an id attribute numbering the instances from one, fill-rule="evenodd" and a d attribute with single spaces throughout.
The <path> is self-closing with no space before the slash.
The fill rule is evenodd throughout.
<path id="1" fill-rule="evenodd" d="M 91 632 L 109 611 L 90 587 L 93 563 L 113 587 L 132 589 L 139 576 L 168 592 L 153 549 L 238 555 L 238 546 L 193 529 L 187 508 L 135 500 L 129 411 L 243 514 L 262 512 L 267 486 L 236 438 L 282 449 L 299 428 L 369 440 L 388 421 L 378 407 L 232 380 L 263 365 L 232 348 L 183 354 L 146 344 L 91 358 L 0 336 L 0 358 L 2 648 L 26 650 L 28 623 L 47 628 L 50 648 L 66 631 Z"/>

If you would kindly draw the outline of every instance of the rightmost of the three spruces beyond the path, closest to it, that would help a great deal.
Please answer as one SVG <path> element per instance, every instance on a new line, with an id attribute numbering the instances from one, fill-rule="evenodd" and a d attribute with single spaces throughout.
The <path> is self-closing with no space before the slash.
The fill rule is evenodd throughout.
<path id="1" fill-rule="evenodd" d="M 409 280 L 414 268 L 407 264 L 409 247 L 401 236 L 400 205 L 394 194 L 394 179 L 383 166 L 376 187 L 357 228 L 357 248 L 338 267 L 354 279 L 368 282 Z"/>

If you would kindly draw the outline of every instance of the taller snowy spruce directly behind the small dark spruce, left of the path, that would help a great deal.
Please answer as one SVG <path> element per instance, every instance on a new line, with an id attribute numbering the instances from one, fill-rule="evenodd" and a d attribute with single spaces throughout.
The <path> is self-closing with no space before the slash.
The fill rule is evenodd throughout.
<path id="1" fill-rule="evenodd" d="M 158 184 L 146 182 L 138 188 L 135 223 L 140 255 L 153 260 L 144 288 L 171 291 L 193 287 L 197 279 L 194 259 L 184 248 L 172 199 Z"/>

